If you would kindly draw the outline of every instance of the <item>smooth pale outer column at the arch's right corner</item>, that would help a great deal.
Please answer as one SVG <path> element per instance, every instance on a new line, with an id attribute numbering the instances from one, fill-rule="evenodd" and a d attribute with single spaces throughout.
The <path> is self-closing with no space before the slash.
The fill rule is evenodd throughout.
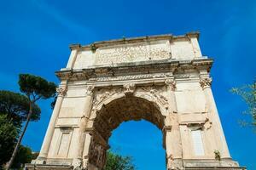
<path id="1" fill-rule="evenodd" d="M 214 138 L 219 137 L 219 139 L 216 139 L 216 142 L 221 154 L 221 158 L 230 158 L 230 151 L 228 149 L 228 145 L 224 137 L 224 131 L 223 131 L 223 128 L 218 116 L 218 110 L 212 95 L 212 88 L 211 88 L 212 79 L 209 77 L 201 78 L 200 84 L 207 99 L 208 116 L 209 116 L 209 121 L 212 122 L 212 128 L 215 133 Z"/>

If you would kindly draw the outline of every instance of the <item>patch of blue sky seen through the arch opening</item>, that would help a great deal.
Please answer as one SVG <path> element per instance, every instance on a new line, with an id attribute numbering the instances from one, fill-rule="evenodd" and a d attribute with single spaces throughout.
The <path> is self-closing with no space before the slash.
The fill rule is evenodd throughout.
<path id="1" fill-rule="evenodd" d="M 166 149 L 162 147 L 162 140 L 162 131 L 151 122 L 128 121 L 113 130 L 108 144 L 111 152 L 131 156 L 136 169 L 166 170 Z"/>

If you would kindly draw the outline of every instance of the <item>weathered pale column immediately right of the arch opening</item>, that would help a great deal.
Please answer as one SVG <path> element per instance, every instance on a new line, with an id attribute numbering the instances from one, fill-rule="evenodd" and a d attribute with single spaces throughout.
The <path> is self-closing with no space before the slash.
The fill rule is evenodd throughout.
<path id="1" fill-rule="evenodd" d="M 177 117 L 177 104 L 175 98 L 176 83 L 173 80 L 166 80 L 167 99 L 169 103 L 168 116 L 166 116 L 166 160 L 167 169 L 177 169 L 182 167 L 182 141 Z"/>

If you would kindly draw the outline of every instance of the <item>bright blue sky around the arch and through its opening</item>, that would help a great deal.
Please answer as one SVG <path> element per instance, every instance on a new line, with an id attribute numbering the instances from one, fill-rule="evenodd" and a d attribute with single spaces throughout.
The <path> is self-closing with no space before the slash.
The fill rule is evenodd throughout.
<path id="1" fill-rule="evenodd" d="M 215 61 L 212 91 L 230 154 L 256 169 L 256 134 L 237 124 L 246 105 L 229 92 L 255 80 L 256 1 L 13 0 L 1 1 L 0 21 L 0 89 L 15 92 L 19 73 L 58 83 L 54 72 L 67 64 L 70 43 L 200 31 L 202 54 Z M 49 101 L 39 105 L 41 120 L 29 125 L 22 142 L 33 150 L 40 150 L 51 115 Z M 110 144 L 133 156 L 141 170 L 165 169 L 161 138 L 149 122 L 126 122 L 113 132 Z"/>

